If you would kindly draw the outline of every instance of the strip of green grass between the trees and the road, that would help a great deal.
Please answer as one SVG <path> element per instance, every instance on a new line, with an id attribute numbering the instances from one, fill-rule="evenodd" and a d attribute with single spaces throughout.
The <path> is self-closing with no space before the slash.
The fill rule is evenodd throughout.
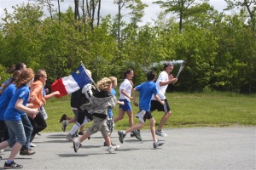
<path id="1" fill-rule="evenodd" d="M 171 105 L 172 116 L 166 122 L 168 127 L 232 127 L 232 126 L 256 126 L 256 94 L 231 94 L 231 93 L 201 93 L 166 94 Z M 131 104 L 133 113 L 138 108 Z M 50 99 L 44 106 L 49 116 L 48 127 L 44 132 L 61 132 L 60 117 L 63 113 L 73 116 L 70 108 L 70 95 L 61 99 Z M 119 106 L 113 110 L 114 116 L 119 114 Z M 154 111 L 153 116 L 156 126 L 160 122 L 163 112 Z M 137 123 L 137 118 L 134 119 Z M 91 123 L 91 122 L 90 122 Z M 86 126 L 90 126 L 90 123 Z M 72 124 L 73 125 L 73 124 Z M 67 131 L 72 127 L 69 125 Z M 115 130 L 126 129 L 128 117 L 115 123 Z M 149 128 L 149 122 L 145 123 L 144 129 Z"/>

